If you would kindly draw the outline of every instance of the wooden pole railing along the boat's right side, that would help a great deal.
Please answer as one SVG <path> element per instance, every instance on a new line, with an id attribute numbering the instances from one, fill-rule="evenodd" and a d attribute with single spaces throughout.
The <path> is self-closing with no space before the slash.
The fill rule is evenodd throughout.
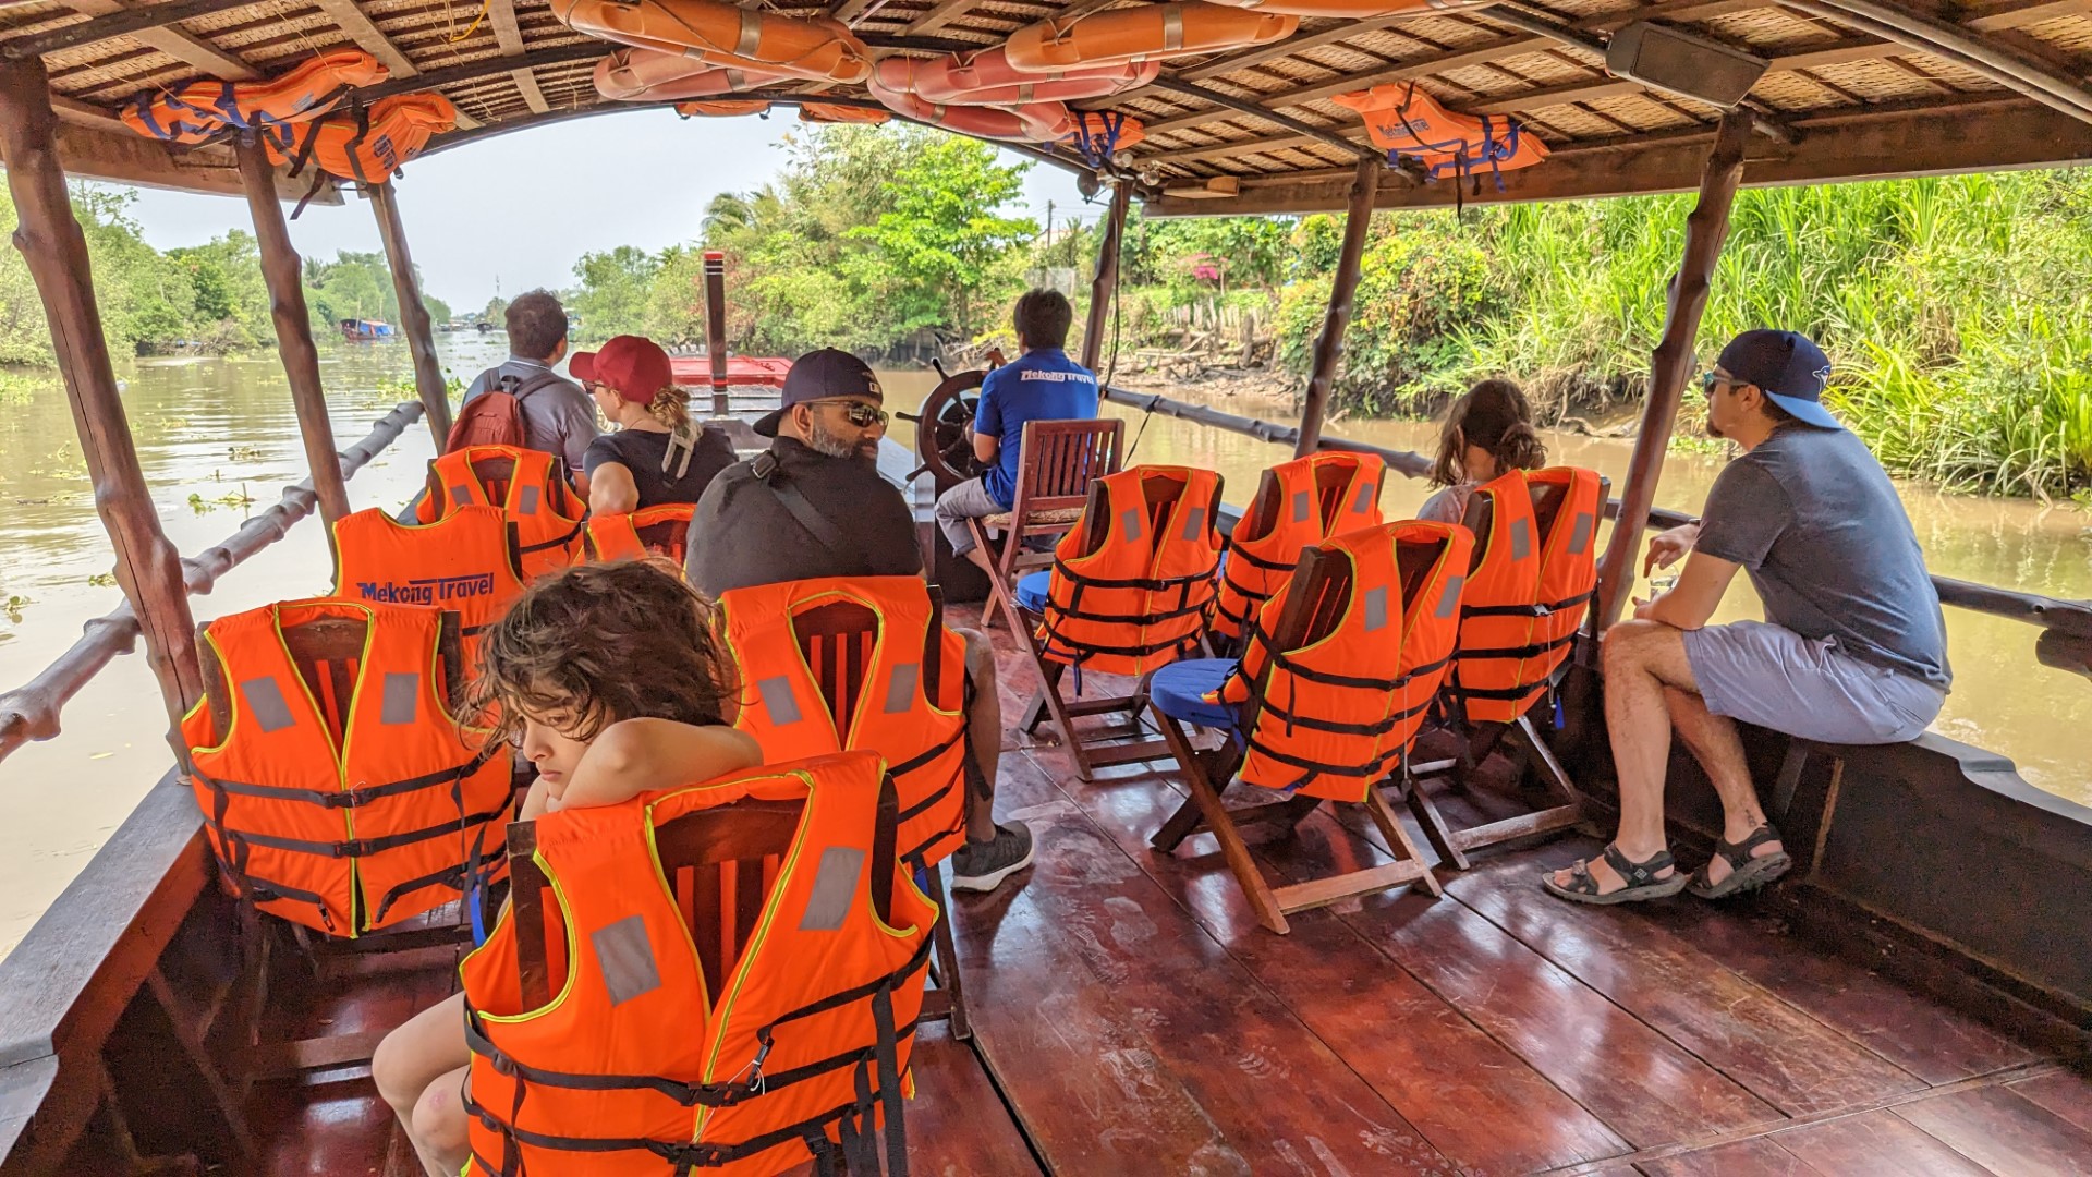
<path id="1" fill-rule="evenodd" d="M 1172 400 L 1153 392 L 1130 392 L 1105 385 L 1105 400 L 1138 408 L 1142 413 L 1153 413 L 1157 417 L 1174 417 L 1178 421 L 1192 421 L 1228 434 L 1257 438 L 1259 442 L 1270 442 L 1274 446 L 1295 446 L 1301 436 L 1301 431 L 1293 425 L 1222 413 L 1209 404 Z M 1379 454 L 1389 469 L 1400 471 L 1406 478 L 1425 478 L 1431 471 L 1431 459 L 1418 454 L 1416 450 L 1391 450 L 1387 446 L 1333 438 L 1328 434 L 1324 434 L 1318 444 L 1324 450 Z M 1619 498 L 1609 498 L 1605 513 L 1607 517 L 1619 517 Z M 1648 521 L 1659 528 L 1676 528 L 1680 524 L 1688 524 L 1690 519 L 1692 515 L 1672 511 L 1667 507 L 1653 507 L 1648 511 Z M 2071 670 L 2092 679 L 2092 601 L 2042 597 L 2040 593 L 2019 593 L 2015 588 L 1998 588 L 1994 584 L 1977 584 L 1973 580 L 1956 580 L 1952 576 L 1933 576 L 1933 586 L 1939 591 L 1941 605 L 2038 626 L 2044 632 L 2036 643 L 2036 656 L 2044 666 Z"/>

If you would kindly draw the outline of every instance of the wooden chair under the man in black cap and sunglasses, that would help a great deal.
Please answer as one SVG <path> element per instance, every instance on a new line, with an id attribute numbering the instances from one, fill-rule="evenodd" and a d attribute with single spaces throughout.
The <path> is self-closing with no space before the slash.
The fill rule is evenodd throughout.
<path id="1" fill-rule="evenodd" d="M 943 593 L 935 584 L 929 586 L 929 616 L 931 624 L 923 639 L 923 691 L 935 699 L 946 674 L 964 674 L 964 666 L 946 666 L 943 660 Z M 870 664 L 872 643 L 879 639 L 879 616 L 856 601 L 835 601 L 797 614 L 793 618 L 793 632 L 799 637 L 799 651 L 805 653 L 805 664 L 814 670 L 814 681 L 820 683 L 820 695 L 828 704 L 828 714 L 835 718 L 837 731 L 841 731 L 849 723 L 847 716 L 858 712 L 858 695 L 864 691 L 864 668 Z M 990 683 L 983 689 L 994 689 L 994 685 Z M 872 748 L 872 752 L 885 754 L 887 750 Z M 967 773 L 967 781 L 960 781 L 960 787 L 969 790 L 969 796 L 983 796 L 987 790 L 973 792 L 979 767 L 973 760 L 971 746 L 964 750 L 960 762 Z M 958 945 L 952 936 L 952 907 L 946 901 L 943 865 L 920 859 L 912 859 L 910 865 L 939 913 L 937 928 L 931 932 L 931 976 L 937 980 L 937 989 L 923 995 L 920 1020 L 950 1020 L 952 1037 L 964 1041 L 973 1037 L 973 1022 L 967 1018 L 967 995 L 958 980 Z"/>

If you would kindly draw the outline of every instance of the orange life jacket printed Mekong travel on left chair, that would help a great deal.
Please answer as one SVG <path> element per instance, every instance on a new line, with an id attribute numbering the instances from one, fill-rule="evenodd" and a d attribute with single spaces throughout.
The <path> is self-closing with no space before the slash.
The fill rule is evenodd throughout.
<path id="1" fill-rule="evenodd" d="M 464 624 L 467 676 L 479 674 L 481 635 L 521 595 L 498 507 L 454 507 L 418 528 L 377 507 L 335 521 L 335 597 L 454 609 Z"/>

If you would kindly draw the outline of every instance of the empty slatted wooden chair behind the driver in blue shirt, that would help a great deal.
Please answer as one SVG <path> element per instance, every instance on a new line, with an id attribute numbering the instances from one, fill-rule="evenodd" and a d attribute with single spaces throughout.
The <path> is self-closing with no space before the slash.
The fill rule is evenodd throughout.
<path id="1" fill-rule="evenodd" d="M 1015 614 L 1019 576 L 1052 565 L 1052 551 L 1027 551 L 1025 540 L 1059 540 L 1075 528 L 1090 501 L 1090 482 L 1119 471 L 1123 434 L 1125 423 L 1117 417 L 1025 421 L 1017 446 L 1017 496 L 1008 513 L 967 519 L 973 542 L 994 565 L 987 603 L 981 605 L 983 628 L 996 624 L 998 612 Z M 990 530 L 1002 532 L 1002 538 L 992 540 Z"/>

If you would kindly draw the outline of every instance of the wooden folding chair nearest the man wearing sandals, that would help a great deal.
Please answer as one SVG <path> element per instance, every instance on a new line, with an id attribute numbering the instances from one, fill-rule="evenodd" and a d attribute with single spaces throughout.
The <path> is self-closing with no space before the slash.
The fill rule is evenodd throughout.
<path id="1" fill-rule="evenodd" d="M 1600 480 L 1598 503 L 1605 503 L 1609 480 Z M 1540 536 L 1552 536 L 1554 524 L 1561 517 L 1563 501 L 1567 498 L 1567 488 L 1563 486 L 1533 486 L 1533 524 Z M 1487 496 L 1473 496 L 1466 503 L 1466 515 L 1460 519 L 1466 530 L 1475 532 L 1475 565 L 1479 568 L 1483 553 L 1490 549 L 1490 528 L 1492 528 L 1492 503 Z M 1592 540 L 1596 542 L 1596 540 Z M 1577 632 L 1577 641 L 1590 637 L 1590 614 L 1586 612 L 1584 628 Z M 1567 674 L 1571 660 L 1554 670 L 1552 683 L 1559 683 Z M 1548 689 L 1540 691 L 1533 702 L 1552 697 L 1552 683 Z M 1569 771 L 1548 748 L 1548 741 L 1540 737 L 1533 727 L 1531 710 L 1521 714 L 1515 723 L 1471 723 L 1458 714 L 1458 704 L 1448 704 L 1448 714 L 1452 714 L 1450 727 L 1460 735 L 1460 750 L 1450 760 L 1431 760 L 1425 764 L 1408 764 L 1404 792 L 1408 796 L 1410 813 L 1425 831 L 1425 840 L 1437 850 L 1439 861 L 1452 865 L 1456 871 L 1469 869 L 1473 863 L 1466 857 L 1469 850 L 1481 850 L 1483 846 L 1496 846 L 1502 842 L 1515 842 L 1519 838 L 1538 838 L 1542 834 L 1556 834 L 1569 829 L 1584 821 L 1584 794 L 1577 792 L 1575 781 L 1569 779 Z M 1454 827 L 1446 821 L 1446 813 L 1431 800 L 1425 792 L 1425 781 L 1443 779 L 1454 792 L 1466 794 L 1471 790 L 1469 777 L 1475 767 L 1481 764 L 1490 752 L 1494 752 L 1504 739 L 1510 739 L 1525 752 L 1531 771 L 1538 773 L 1540 785 L 1552 798 L 1552 804 L 1538 808 L 1533 813 L 1521 813 L 1515 817 L 1502 817 L 1496 821 L 1485 821 L 1481 825 Z"/>

